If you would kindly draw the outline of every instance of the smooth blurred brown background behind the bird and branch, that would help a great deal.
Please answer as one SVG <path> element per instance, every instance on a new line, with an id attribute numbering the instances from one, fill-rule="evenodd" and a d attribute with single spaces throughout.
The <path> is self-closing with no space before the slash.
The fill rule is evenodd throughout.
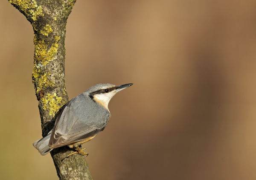
<path id="1" fill-rule="evenodd" d="M 0 174 L 57 180 L 41 137 L 32 26 L 0 3 Z M 67 23 L 70 99 L 109 82 L 108 127 L 84 145 L 95 180 L 256 179 L 256 2 L 78 0 Z"/>

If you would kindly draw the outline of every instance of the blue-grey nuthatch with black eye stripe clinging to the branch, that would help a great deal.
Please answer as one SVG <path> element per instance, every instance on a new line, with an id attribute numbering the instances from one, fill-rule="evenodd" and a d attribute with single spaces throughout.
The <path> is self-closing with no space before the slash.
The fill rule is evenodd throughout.
<path id="1" fill-rule="evenodd" d="M 80 95 L 71 99 L 58 113 L 55 125 L 47 136 L 33 143 L 41 155 L 52 149 L 68 146 L 75 151 L 73 154 L 87 156 L 81 144 L 93 139 L 103 131 L 111 116 L 108 103 L 121 90 L 133 83 L 116 86 L 114 84 L 96 84 Z"/>

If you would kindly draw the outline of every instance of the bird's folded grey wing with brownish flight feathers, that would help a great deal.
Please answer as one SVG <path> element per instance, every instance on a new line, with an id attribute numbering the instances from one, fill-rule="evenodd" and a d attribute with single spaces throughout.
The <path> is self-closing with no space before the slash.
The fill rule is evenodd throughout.
<path id="1" fill-rule="evenodd" d="M 49 140 L 51 148 L 58 148 L 86 139 L 101 131 L 107 124 L 107 120 L 105 123 L 96 124 L 93 121 L 79 118 L 71 107 L 72 103 L 72 101 L 69 102 L 56 119 Z"/>

